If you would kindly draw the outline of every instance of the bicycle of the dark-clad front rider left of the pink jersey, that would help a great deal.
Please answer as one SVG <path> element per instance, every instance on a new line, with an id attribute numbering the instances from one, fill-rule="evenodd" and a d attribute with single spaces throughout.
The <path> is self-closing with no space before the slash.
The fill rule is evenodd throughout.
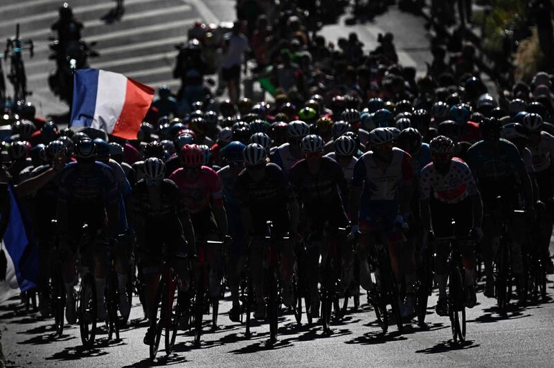
<path id="1" fill-rule="evenodd" d="M 163 330 L 165 330 L 166 356 L 171 353 L 177 338 L 177 320 L 181 311 L 185 310 L 181 306 L 182 297 L 179 295 L 184 292 L 181 291 L 182 282 L 171 264 L 170 257 L 188 259 L 183 255 L 166 255 L 163 259 L 161 279 L 151 311 L 150 331 L 154 333 L 154 338 L 150 343 L 150 360 L 154 360 L 157 356 Z"/>

